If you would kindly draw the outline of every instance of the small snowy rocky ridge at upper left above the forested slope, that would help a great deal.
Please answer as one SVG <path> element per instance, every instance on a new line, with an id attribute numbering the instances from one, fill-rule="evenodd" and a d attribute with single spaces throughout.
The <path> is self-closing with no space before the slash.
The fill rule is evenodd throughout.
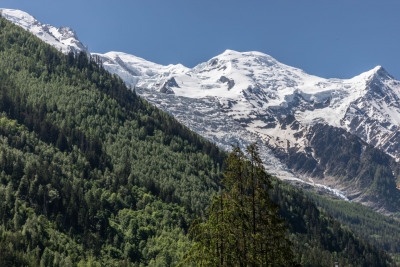
<path id="1" fill-rule="evenodd" d="M 76 33 L 69 27 L 56 28 L 49 24 L 42 24 L 28 13 L 15 9 L 0 8 L 0 16 L 33 33 L 63 53 L 88 52 L 87 47 L 78 40 Z"/>

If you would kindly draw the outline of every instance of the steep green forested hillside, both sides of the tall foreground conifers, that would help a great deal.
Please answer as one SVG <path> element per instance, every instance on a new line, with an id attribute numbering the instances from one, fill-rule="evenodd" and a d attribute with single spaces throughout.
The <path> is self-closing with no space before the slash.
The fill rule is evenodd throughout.
<path id="1" fill-rule="evenodd" d="M 226 155 L 86 54 L 0 18 L 0 266 L 174 266 L 220 190 Z M 304 266 L 386 253 L 276 182 Z M 321 255 L 323 261 L 321 261 Z"/>

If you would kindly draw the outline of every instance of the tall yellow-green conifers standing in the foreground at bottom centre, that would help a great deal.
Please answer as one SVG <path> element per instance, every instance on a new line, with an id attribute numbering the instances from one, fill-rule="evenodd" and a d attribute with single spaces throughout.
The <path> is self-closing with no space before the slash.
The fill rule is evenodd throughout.
<path id="1" fill-rule="evenodd" d="M 199 266 L 295 265 L 287 228 L 270 199 L 271 176 L 256 144 L 238 146 L 227 159 L 222 194 L 214 197 L 205 222 L 190 228 L 194 245 L 184 264 Z"/>

